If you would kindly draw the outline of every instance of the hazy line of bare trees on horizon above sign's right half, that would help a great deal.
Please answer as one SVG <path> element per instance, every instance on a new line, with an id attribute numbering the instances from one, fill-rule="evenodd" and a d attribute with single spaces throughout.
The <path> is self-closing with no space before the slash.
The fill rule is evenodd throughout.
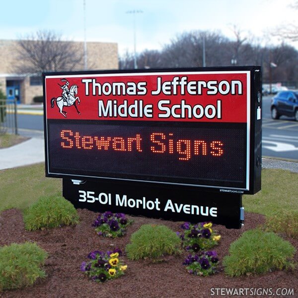
<path id="1" fill-rule="evenodd" d="M 282 82 L 298 86 L 298 51 L 285 43 L 262 47 L 260 40 L 233 27 L 234 40 L 220 33 L 191 31 L 176 35 L 160 51 L 150 50 L 138 54 L 139 68 L 183 68 L 203 65 L 203 36 L 205 38 L 206 66 L 260 65 L 263 82 Z M 271 63 L 277 65 L 270 68 Z M 121 69 L 133 69 L 134 57 L 127 52 L 120 59 Z"/>

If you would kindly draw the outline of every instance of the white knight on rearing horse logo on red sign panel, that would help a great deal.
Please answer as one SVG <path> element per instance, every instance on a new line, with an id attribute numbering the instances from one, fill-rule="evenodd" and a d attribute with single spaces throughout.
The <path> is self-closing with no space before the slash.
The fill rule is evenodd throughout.
<path id="1" fill-rule="evenodd" d="M 70 106 L 74 106 L 77 113 L 80 115 L 80 112 L 78 111 L 77 107 L 76 107 L 76 100 L 77 100 L 77 104 L 80 103 L 79 97 L 76 96 L 77 94 L 77 85 L 72 85 L 69 88 L 70 82 L 66 79 L 66 78 L 62 78 L 61 79 L 62 82 L 65 82 L 64 85 L 60 85 L 60 88 L 62 89 L 62 96 L 59 97 L 53 97 L 51 99 L 51 108 L 54 108 L 54 101 L 56 100 L 56 104 L 59 108 L 59 112 L 65 117 L 67 118 L 67 112 L 63 111 L 63 108 L 65 106 L 70 107 Z"/>

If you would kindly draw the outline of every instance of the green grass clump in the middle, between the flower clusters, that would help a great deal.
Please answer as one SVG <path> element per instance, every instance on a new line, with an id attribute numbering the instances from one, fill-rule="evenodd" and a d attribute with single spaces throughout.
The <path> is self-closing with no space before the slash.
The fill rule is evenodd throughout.
<path id="1" fill-rule="evenodd" d="M 181 239 L 167 226 L 143 224 L 132 234 L 126 252 L 132 260 L 150 258 L 157 262 L 165 255 L 179 254 L 180 247 Z"/>

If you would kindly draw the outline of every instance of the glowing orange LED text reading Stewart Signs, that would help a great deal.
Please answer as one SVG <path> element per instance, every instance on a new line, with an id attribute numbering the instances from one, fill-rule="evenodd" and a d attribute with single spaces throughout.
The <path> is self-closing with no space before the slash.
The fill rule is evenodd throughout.
<path id="1" fill-rule="evenodd" d="M 222 156 L 224 143 L 220 140 L 206 141 L 202 139 L 174 138 L 173 133 L 153 132 L 145 142 L 140 134 L 133 137 L 121 136 L 82 136 L 79 132 L 62 130 L 61 147 L 64 149 L 113 150 L 145 152 L 154 154 L 173 154 L 179 160 L 190 160 L 193 156 Z M 142 141 L 143 140 L 143 141 Z M 144 142 L 144 143 L 143 143 Z"/>

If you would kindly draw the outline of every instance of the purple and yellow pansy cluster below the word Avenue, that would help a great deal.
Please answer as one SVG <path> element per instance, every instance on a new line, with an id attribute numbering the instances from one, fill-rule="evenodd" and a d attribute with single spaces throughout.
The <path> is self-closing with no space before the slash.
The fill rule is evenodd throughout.
<path id="1" fill-rule="evenodd" d="M 212 223 L 184 223 L 181 228 L 183 232 L 177 232 L 177 235 L 180 236 L 183 247 L 188 251 L 197 252 L 210 249 L 217 245 L 221 239 L 221 235 L 212 229 Z"/>

